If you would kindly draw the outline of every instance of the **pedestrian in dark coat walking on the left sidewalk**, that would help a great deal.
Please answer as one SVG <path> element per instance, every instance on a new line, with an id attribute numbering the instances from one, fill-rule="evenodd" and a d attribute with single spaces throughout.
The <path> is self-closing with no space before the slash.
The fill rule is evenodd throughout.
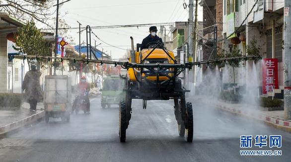
<path id="1" fill-rule="evenodd" d="M 36 64 L 32 63 L 30 71 L 25 74 L 22 90 L 25 90 L 25 99 L 30 105 L 30 111 L 36 112 L 36 105 L 43 98 L 43 92 L 40 86 L 41 72 L 36 69 Z"/>

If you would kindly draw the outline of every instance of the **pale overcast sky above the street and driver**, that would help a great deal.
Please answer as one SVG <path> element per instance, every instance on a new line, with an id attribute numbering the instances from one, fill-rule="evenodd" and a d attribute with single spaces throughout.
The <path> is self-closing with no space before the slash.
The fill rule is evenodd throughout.
<path id="1" fill-rule="evenodd" d="M 64 1 L 64 0 L 60 0 Z M 185 1 L 187 4 L 189 0 Z M 82 27 L 86 25 L 123 25 L 123 24 L 144 24 L 163 23 L 175 21 L 187 21 L 189 10 L 183 7 L 184 0 L 71 0 L 64 3 L 59 11 L 60 17 L 66 20 L 71 27 L 78 27 L 79 21 Z M 200 9 L 199 19 L 202 19 Z M 159 26 L 157 25 L 159 29 Z M 92 29 L 97 36 L 110 45 L 122 49 L 131 47 L 130 36 L 134 37 L 134 44 L 141 43 L 149 32 L 148 27 Z M 78 29 L 70 30 L 75 45 L 78 44 Z M 166 33 L 170 27 L 166 26 Z M 91 44 L 102 43 L 91 35 Z M 86 41 L 86 32 L 81 33 L 81 42 Z M 72 44 L 73 45 L 73 44 Z M 106 45 L 97 46 L 99 50 L 112 54 L 112 58 L 123 58 L 126 50 Z"/>

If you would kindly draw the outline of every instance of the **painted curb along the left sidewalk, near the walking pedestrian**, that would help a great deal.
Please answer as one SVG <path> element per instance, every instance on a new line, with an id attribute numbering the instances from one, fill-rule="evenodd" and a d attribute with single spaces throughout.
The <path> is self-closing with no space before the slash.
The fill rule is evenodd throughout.
<path id="1" fill-rule="evenodd" d="M 18 121 L 12 122 L 10 124 L 4 125 L 0 127 L 0 135 L 3 135 L 7 132 L 10 132 L 12 130 L 15 130 L 17 128 L 23 127 L 27 124 L 30 124 L 38 119 L 41 119 L 44 117 L 44 111 L 40 111 L 36 114 L 33 114 L 31 116 L 28 116 L 26 118 L 20 119 Z"/>

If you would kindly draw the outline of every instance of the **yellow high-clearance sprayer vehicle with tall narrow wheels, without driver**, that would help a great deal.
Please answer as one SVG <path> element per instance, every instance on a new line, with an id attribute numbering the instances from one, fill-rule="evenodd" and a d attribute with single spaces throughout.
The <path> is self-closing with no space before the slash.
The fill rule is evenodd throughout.
<path id="1" fill-rule="evenodd" d="M 148 49 L 139 50 L 137 44 L 134 50 L 131 37 L 132 50 L 124 91 L 126 95 L 120 103 L 120 142 L 126 141 L 126 129 L 132 113 L 132 99 L 143 99 L 143 108 L 146 109 L 147 100 L 174 100 L 174 114 L 181 137 L 185 136 L 187 142 L 193 141 L 193 110 L 190 102 L 186 103 L 185 92 L 178 75 L 185 70 L 185 66 L 178 64 L 174 54 L 166 50 L 160 42 L 150 42 Z"/>

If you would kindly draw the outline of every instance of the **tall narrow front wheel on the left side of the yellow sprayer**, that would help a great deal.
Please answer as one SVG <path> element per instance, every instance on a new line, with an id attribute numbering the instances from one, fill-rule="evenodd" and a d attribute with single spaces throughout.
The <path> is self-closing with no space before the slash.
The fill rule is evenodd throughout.
<path id="1" fill-rule="evenodd" d="M 119 140 L 120 142 L 125 142 L 126 128 L 127 128 L 126 103 L 121 102 L 120 109 L 119 109 Z"/>

